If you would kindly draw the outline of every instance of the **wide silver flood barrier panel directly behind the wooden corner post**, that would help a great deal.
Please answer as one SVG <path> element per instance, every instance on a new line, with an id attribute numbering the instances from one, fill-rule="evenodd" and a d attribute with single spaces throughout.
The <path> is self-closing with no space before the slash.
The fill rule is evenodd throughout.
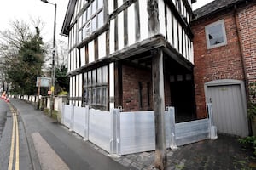
<path id="1" fill-rule="evenodd" d="M 165 112 L 166 148 L 171 144 L 170 111 Z M 121 112 L 119 141 L 119 155 L 155 150 L 154 111 Z"/>

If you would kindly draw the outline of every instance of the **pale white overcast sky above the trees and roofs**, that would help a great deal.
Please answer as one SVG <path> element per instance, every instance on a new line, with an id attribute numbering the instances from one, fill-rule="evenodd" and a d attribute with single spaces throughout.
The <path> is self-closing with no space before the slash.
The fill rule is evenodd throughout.
<path id="1" fill-rule="evenodd" d="M 57 3 L 57 39 L 67 40 L 67 37 L 60 36 L 61 26 L 66 14 L 67 3 L 69 0 L 49 0 L 50 3 Z M 145 1 L 145 0 L 143 0 Z M 199 8 L 202 5 L 211 2 L 212 0 L 197 0 L 193 8 Z M 0 6 L 0 30 L 9 29 L 9 22 L 15 19 L 25 20 L 30 23 L 30 20 L 38 19 L 44 21 L 44 30 L 42 37 L 44 42 L 48 42 L 53 37 L 54 25 L 54 5 L 43 3 L 41 0 L 3 0 Z"/>

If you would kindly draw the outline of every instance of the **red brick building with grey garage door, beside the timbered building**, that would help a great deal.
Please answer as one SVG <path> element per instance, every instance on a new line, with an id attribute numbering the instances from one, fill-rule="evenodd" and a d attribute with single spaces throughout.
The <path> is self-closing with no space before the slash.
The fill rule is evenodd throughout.
<path id="1" fill-rule="evenodd" d="M 256 82 L 256 2 L 208 3 L 195 10 L 192 30 L 198 118 L 212 102 L 218 131 L 246 136 L 248 84 Z"/>

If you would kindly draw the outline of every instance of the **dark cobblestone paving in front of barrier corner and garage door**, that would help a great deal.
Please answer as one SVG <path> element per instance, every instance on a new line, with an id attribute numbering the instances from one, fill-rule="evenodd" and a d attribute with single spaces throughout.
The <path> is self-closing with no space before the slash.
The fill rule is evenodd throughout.
<path id="1" fill-rule="evenodd" d="M 92 144 L 93 145 L 93 144 Z M 94 146 L 96 148 L 96 146 Z M 100 151 L 100 149 L 96 148 Z M 101 151 L 102 154 L 107 154 Z M 219 135 L 216 140 L 204 140 L 195 144 L 167 150 L 167 170 L 181 169 L 256 169 L 253 150 L 244 149 L 237 138 Z M 125 167 L 134 170 L 154 170 L 154 151 L 113 157 Z"/>

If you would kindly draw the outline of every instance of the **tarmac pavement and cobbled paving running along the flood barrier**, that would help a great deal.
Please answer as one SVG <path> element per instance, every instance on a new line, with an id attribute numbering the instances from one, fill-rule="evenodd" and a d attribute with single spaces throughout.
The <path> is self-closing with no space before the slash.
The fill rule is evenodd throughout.
<path id="1" fill-rule="evenodd" d="M 35 110 L 32 105 L 18 99 L 11 104 L 20 112 L 29 141 L 33 169 L 43 169 L 38 156 L 38 142 L 49 144 L 69 169 L 154 169 L 154 151 L 109 157 L 108 153 L 76 133 Z M 43 151 L 44 152 L 44 151 Z M 218 139 L 207 139 L 195 144 L 167 150 L 167 170 L 171 169 L 256 169 L 253 150 L 242 147 L 237 137 L 218 134 Z"/>

